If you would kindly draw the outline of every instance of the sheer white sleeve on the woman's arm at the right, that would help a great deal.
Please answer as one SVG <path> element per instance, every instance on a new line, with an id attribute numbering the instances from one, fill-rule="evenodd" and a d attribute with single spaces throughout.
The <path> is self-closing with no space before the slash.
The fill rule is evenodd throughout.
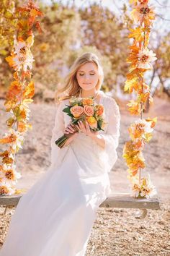
<path id="1" fill-rule="evenodd" d="M 108 127 L 106 134 L 100 134 L 105 141 L 104 153 L 107 157 L 107 171 L 111 171 L 112 166 L 117 161 L 117 146 L 120 137 L 120 111 L 116 101 L 109 98 L 109 114 L 108 114 Z"/>

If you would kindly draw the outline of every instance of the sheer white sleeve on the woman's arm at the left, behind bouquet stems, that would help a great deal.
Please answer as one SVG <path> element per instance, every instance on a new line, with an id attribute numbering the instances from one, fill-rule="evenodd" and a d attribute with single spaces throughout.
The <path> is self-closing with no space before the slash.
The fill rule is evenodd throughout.
<path id="1" fill-rule="evenodd" d="M 50 141 L 51 168 L 56 168 L 61 163 L 61 161 L 63 161 L 63 158 L 68 150 L 68 147 L 59 148 L 58 145 L 55 144 L 55 140 L 61 137 L 65 130 L 63 108 L 63 101 L 58 103 L 55 107 L 55 124 L 52 129 L 52 137 Z"/>

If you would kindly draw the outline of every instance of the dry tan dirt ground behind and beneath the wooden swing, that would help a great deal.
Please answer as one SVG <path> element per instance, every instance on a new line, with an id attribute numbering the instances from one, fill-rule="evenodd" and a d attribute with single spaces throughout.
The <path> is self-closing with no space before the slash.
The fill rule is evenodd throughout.
<path id="1" fill-rule="evenodd" d="M 6 131 L 4 101 L 0 101 L 0 135 Z M 50 137 L 54 124 L 54 103 L 32 103 L 30 122 L 33 129 L 25 135 L 23 149 L 17 153 L 17 171 L 22 173 L 17 187 L 31 187 L 50 165 Z M 146 172 L 158 192 L 161 210 L 148 210 L 146 218 L 139 219 L 139 210 L 99 208 L 91 231 L 86 256 L 169 256 L 170 255 L 170 103 L 159 98 L 144 117 L 158 116 L 151 142 L 146 145 Z M 122 148 L 129 140 L 128 126 L 135 120 L 120 104 L 121 129 L 118 160 L 109 178 L 112 192 L 130 192 L 127 166 Z M 4 148 L 5 149 L 5 148 Z M 3 150 L 3 147 L 1 147 Z M 1 207 L 1 213 L 4 208 Z M 0 244 L 3 244 L 14 208 L 1 216 Z M 9 255 L 12 256 L 12 255 Z M 24 255 L 23 255 L 24 256 Z M 30 255 L 36 256 L 36 255 Z M 47 255 L 48 256 L 48 255 Z M 59 256 L 59 255 L 58 255 Z"/>

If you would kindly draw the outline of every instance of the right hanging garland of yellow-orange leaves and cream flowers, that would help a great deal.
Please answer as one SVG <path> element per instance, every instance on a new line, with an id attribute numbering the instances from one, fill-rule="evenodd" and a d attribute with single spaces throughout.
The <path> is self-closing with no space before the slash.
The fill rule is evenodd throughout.
<path id="1" fill-rule="evenodd" d="M 135 197 L 151 197 L 156 194 L 156 189 L 151 184 L 148 176 L 141 177 L 141 169 L 145 168 L 145 159 L 143 158 L 144 145 L 152 138 L 153 127 L 157 118 L 143 119 L 143 110 L 145 103 L 153 103 L 150 94 L 150 88 L 144 80 L 144 73 L 152 69 L 151 62 L 155 61 L 156 54 L 148 49 L 149 36 L 153 20 L 155 19 L 154 8 L 149 5 L 149 0 L 130 0 L 133 10 L 131 17 L 136 27 L 130 29 L 129 38 L 133 38 L 133 44 L 130 46 L 128 63 L 130 69 L 125 82 L 125 91 L 137 94 L 136 101 L 131 100 L 128 105 L 128 111 L 132 115 L 139 115 L 140 118 L 128 127 L 130 138 L 123 148 L 123 158 L 128 166 L 128 179 L 132 186 L 132 195 Z"/>

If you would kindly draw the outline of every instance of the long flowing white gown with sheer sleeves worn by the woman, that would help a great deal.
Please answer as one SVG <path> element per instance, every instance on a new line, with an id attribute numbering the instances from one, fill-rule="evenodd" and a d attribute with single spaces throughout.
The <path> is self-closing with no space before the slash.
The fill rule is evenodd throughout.
<path id="1" fill-rule="evenodd" d="M 56 105 L 51 138 L 51 165 L 22 196 L 11 218 L 0 256 L 84 256 L 97 208 L 108 197 L 108 173 L 117 160 L 120 111 L 102 91 L 107 126 L 99 133 L 105 148 L 79 135 L 65 148 L 55 140 L 63 135 L 70 117 Z"/>

